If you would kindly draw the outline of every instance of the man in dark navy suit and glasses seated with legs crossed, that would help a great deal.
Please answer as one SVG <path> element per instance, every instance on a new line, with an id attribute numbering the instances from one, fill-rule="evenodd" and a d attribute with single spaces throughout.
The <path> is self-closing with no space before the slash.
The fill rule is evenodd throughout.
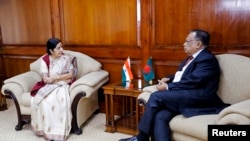
<path id="1" fill-rule="evenodd" d="M 140 120 L 140 133 L 120 141 L 149 141 L 151 135 L 155 141 L 170 141 L 169 121 L 174 116 L 215 114 L 227 106 L 216 93 L 220 68 L 207 49 L 209 40 L 207 31 L 190 31 L 183 45 L 188 59 L 174 75 L 159 80 L 158 91 L 151 94 Z"/>

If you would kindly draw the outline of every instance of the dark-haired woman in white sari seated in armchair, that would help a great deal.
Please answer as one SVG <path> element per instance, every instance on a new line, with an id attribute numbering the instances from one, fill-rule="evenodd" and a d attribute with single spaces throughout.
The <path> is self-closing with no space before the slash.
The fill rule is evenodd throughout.
<path id="1" fill-rule="evenodd" d="M 66 140 L 71 130 L 69 86 L 76 78 L 76 58 L 63 53 L 61 40 L 51 38 L 40 71 L 40 87 L 31 92 L 32 130 L 46 140 Z"/>

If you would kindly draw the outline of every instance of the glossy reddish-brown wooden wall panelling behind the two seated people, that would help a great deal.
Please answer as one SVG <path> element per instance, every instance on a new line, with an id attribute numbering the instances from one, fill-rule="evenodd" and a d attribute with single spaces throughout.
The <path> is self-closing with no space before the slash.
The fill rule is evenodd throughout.
<path id="1" fill-rule="evenodd" d="M 193 28 L 211 33 L 215 54 L 250 56 L 247 9 L 249 2 L 239 0 L 1 0 L 5 77 L 29 69 L 28 63 L 45 53 L 50 37 L 61 38 L 64 49 L 100 60 L 110 83 L 120 81 L 128 56 L 136 77 L 142 77 L 150 56 L 157 77 L 175 72 Z M 17 62 L 25 68 L 13 71 Z"/>

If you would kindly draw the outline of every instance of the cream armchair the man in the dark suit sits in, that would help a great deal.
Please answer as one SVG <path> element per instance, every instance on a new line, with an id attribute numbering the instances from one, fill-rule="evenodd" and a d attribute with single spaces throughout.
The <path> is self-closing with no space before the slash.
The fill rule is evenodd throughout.
<path id="1" fill-rule="evenodd" d="M 250 58 L 236 54 L 216 55 L 221 68 L 218 95 L 231 106 L 219 114 L 200 115 L 186 118 L 175 116 L 170 121 L 172 140 L 207 141 L 208 125 L 250 124 Z M 138 96 L 140 105 L 145 106 L 156 86 L 148 86 Z"/>

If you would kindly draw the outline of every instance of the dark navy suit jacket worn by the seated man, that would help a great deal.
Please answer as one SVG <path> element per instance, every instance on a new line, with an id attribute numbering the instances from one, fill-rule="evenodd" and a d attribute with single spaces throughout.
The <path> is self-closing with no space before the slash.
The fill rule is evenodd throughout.
<path id="1" fill-rule="evenodd" d="M 180 64 L 179 70 L 184 64 L 185 61 Z M 189 64 L 180 82 L 172 82 L 174 75 L 169 78 L 169 91 L 184 95 L 179 104 L 184 116 L 215 114 L 228 106 L 217 95 L 220 80 L 218 61 L 206 48 Z"/>

